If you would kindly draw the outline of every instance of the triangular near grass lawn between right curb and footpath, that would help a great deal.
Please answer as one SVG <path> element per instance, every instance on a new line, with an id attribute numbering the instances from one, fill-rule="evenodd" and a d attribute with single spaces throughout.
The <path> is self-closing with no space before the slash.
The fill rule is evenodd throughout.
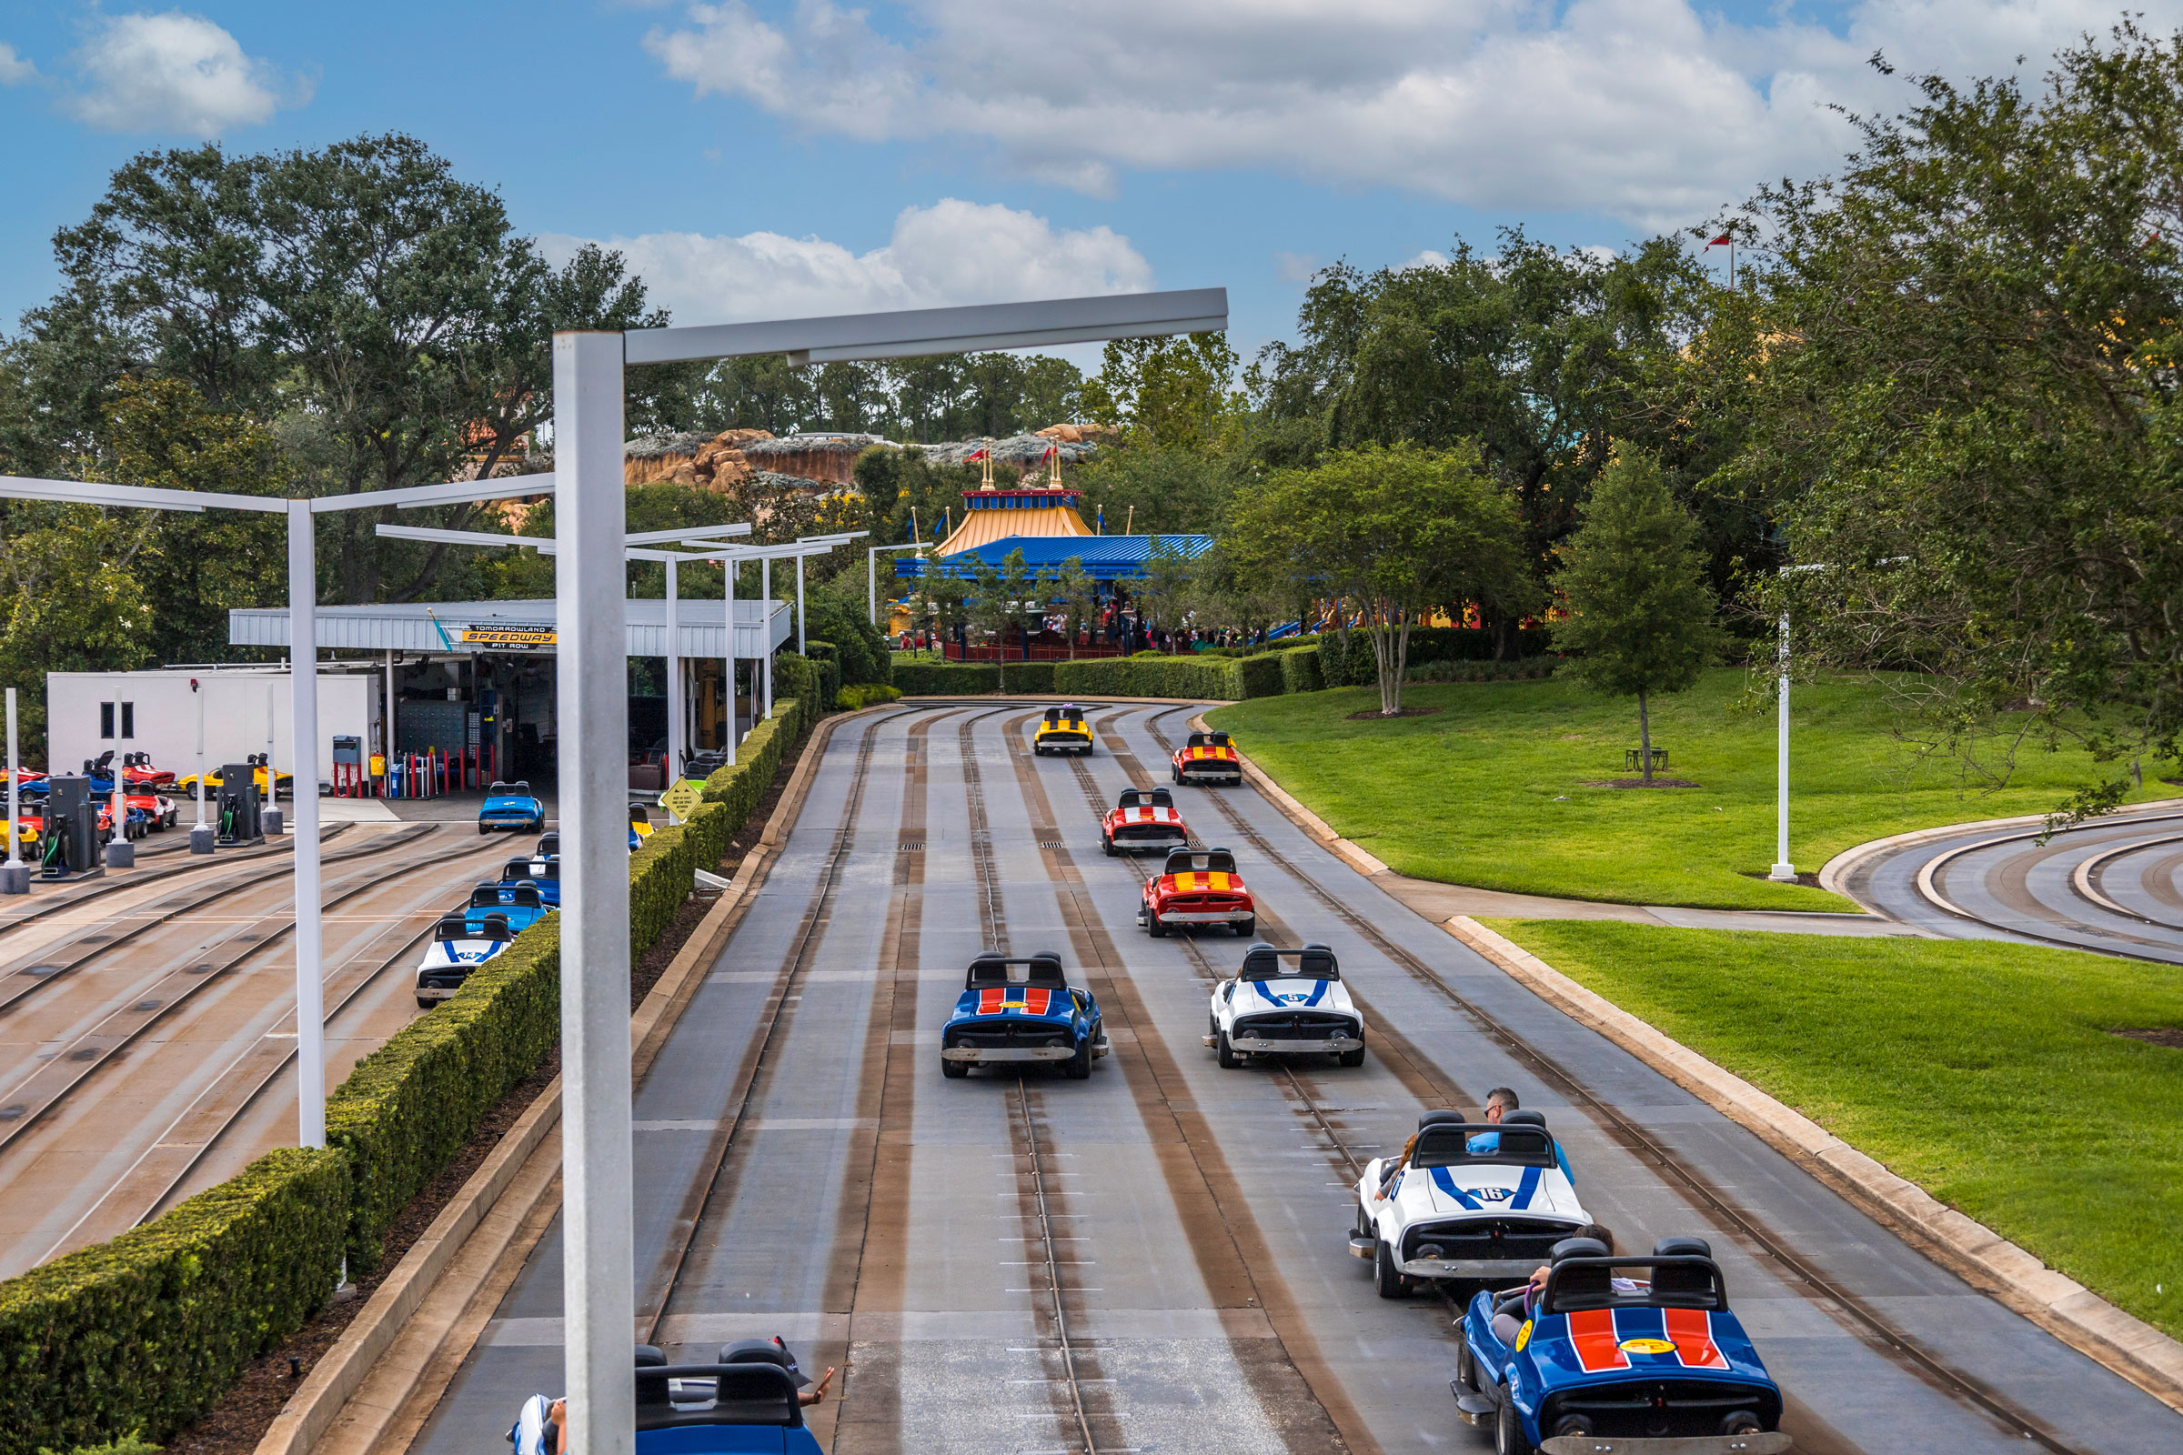
<path id="1" fill-rule="evenodd" d="M 1995 940 L 1487 923 L 2183 1335 L 2183 1051 L 2111 1034 L 2183 1030 L 2176 971 Z"/>

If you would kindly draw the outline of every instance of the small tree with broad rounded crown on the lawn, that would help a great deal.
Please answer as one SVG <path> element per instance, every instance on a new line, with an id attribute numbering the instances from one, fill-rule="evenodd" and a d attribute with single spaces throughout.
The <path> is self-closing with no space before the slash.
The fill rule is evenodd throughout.
<path id="1" fill-rule="evenodd" d="M 1240 569 L 1303 576 L 1362 613 L 1382 713 L 1401 711 L 1415 624 L 1445 602 L 1508 600 L 1524 574 L 1515 508 L 1474 445 L 1329 449 L 1240 491 L 1225 539 Z"/>

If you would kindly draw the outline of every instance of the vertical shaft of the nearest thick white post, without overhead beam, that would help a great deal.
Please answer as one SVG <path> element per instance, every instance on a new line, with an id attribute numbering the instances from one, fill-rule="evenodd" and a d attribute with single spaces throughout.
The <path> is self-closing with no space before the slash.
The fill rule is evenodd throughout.
<path id="1" fill-rule="evenodd" d="M 635 1455 L 622 336 L 554 334 L 561 1270 L 570 1448 Z"/>

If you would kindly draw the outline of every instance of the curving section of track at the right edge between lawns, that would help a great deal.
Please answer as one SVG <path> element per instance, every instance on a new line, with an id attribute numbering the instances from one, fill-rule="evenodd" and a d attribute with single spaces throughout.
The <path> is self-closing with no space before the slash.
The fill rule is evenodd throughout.
<path id="1" fill-rule="evenodd" d="M 2183 964 L 2183 809 L 2039 840 L 2037 822 L 1965 825 L 1856 859 L 1842 888 L 1925 934 Z"/>

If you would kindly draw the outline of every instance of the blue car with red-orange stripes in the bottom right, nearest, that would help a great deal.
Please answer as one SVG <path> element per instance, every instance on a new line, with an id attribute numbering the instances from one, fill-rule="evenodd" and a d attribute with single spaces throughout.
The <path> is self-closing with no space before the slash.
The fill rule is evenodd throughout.
<path id="1" fill-rule="evenodd" d="M 1698 1237 L 1653 1256 L 1567 1239 L 1546 1278 L 1463 1315 L 1456 1409 L 1498 1455 L 1779 1455 L 1781 1390 Z"/>

